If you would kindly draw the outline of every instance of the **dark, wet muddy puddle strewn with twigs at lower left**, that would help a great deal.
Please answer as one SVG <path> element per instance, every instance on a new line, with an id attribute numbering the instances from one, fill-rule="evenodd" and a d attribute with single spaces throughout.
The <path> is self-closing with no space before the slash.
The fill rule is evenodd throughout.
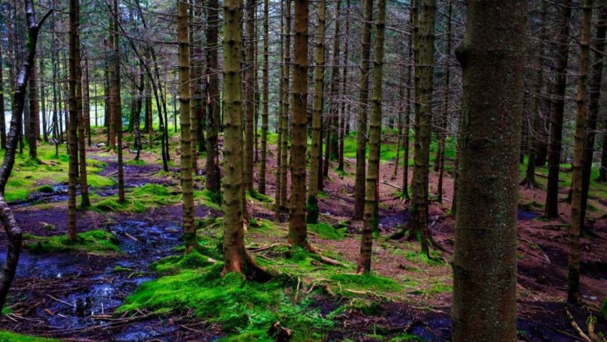
<path id="1" fill-rule="evenodd" d="M 89 338 L 99 334 L 99 338 L 114 341 L 145 340 L 176 331 L 179 326 L 159 324 L 158 319 L 117 325 L 112 314 L 138 285 L 155 277 L 149 265 L 174 253 L 173 248 L 183 243 L 181 227 L 170 220 L 155 222 L 150 218 L 127 219 L 105 229 L 116 235 L 123 252 L 24 251 L 8 304 L 18 316 L 5 318 L 0 325 L 14 329 L 16 320 L 21 324 L 18 330 L 29 334 Z M 0 261 L 5 255 L 3 248 Z"/>

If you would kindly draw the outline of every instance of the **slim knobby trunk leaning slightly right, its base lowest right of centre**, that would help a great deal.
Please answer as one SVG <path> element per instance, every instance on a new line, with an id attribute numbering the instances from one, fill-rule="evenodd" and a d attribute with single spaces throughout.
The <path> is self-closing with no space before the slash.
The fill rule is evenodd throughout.
<path id="1" fill-rule="evenodd" d="M 361 256 L 356 269 L 358 273 L 371 271 L 373 230 L 378 227 L 379 155 L 381 147 L 383 45 L 385 32 L 385 0 L 378 1 L 378 17 L 375 20 L 375 53 L 373 54 L 373 95 L 371 120 L 369 121 L 369 165 L 366 176 L 365 215 L 361 237 Z"/>

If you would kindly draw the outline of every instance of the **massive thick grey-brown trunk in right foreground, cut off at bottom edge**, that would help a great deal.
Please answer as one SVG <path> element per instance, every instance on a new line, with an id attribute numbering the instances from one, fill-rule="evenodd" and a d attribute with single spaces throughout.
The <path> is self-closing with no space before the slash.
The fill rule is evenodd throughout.
<path id="1" fill-rule="evenodd" d="M 463 72 L 464 117 L 452 262 L 453 341 L 517 339 L 526 3 L 468 1 L 466 33 L 456 50 Z"/>

